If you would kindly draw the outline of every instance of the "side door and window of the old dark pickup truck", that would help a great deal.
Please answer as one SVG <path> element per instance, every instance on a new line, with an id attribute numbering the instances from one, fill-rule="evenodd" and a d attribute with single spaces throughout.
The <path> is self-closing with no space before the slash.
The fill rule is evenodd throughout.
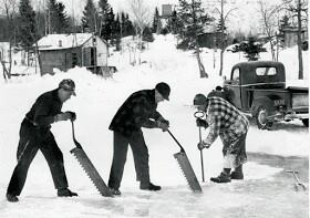
<path id="1" fill-rule="evenodd" d="M 234 68 L 232 69 L 230 81 L 227 81 L 225 86 L 229 91 L 230 102 L 237 108 L 242 108 L 241 86 L 240 86 L 240 69 L 239 68 Z"/>

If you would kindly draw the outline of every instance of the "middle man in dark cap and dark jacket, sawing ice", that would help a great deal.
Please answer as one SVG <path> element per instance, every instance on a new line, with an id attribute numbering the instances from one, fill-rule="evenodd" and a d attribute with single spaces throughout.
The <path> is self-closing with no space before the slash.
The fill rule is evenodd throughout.
<path id="1" fill-rule="evenodd" d="M 170 87 L 166 83 L 156 84 L 153 90 L 133 93 L 118 108 L 110 129 L 114 132 L 114 153 L 110 172 L 108 187 L 114 195 L 123 177 L 128 144 L 133 150 L 137 180 L 144 190 L 159 190 L 161 186 L 149 181 L 148 149 L 144 142 L 142 127 L 168 129 L 166 121 L 157 111 L 157 103 L 169 100 Z"/>

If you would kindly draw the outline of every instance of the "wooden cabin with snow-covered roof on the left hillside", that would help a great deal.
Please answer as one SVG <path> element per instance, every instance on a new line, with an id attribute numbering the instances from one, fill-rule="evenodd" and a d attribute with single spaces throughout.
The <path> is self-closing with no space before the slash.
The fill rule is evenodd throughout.
<path id="1" fill-rule="evenodd" d="M 107 44 L 93 33 L 48 34 L 38 41 L 42 64 L 41 74 L 53 74 L 53 69 L 68 71 L 86 66 L 96 72 L 107 66 Z"/>

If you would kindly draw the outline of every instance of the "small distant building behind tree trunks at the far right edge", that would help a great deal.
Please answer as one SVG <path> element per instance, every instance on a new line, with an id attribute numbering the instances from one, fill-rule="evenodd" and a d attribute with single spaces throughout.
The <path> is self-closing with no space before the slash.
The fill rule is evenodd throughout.
<path id="1" fill-rule="evenodd" d="M 297 34 L 298 29 L 294 27 L 282 27 L 280 29 L 280 34 L 283 37 L 285 46 L 290 48 L 297 45 Z M 301 30 L 301 42 L 308 40 L 308 31 L 306 29 Z"/>

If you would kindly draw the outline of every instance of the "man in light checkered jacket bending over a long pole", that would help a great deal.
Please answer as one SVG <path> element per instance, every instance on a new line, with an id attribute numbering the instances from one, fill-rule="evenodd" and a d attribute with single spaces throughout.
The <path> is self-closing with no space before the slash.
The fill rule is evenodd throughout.
<path id="1" fill-rule="evenodd" d="M 230 179 L 244 179 L 242 164 L 247 159 L 246 136 L 249 121 L 226 100 L 197 94 L 194 105 L 206 113 L 206 120 L 198 118 L 197 125 L 209 127 L 208 136 L 198 143 L 198 148 L 209 148 L 220 136 L 224 144 L 224 169 L 218 177 L 211 177 L 215 183 L 229 183 Z M 231 168 L 235 170 L 230 174 Z"/>

